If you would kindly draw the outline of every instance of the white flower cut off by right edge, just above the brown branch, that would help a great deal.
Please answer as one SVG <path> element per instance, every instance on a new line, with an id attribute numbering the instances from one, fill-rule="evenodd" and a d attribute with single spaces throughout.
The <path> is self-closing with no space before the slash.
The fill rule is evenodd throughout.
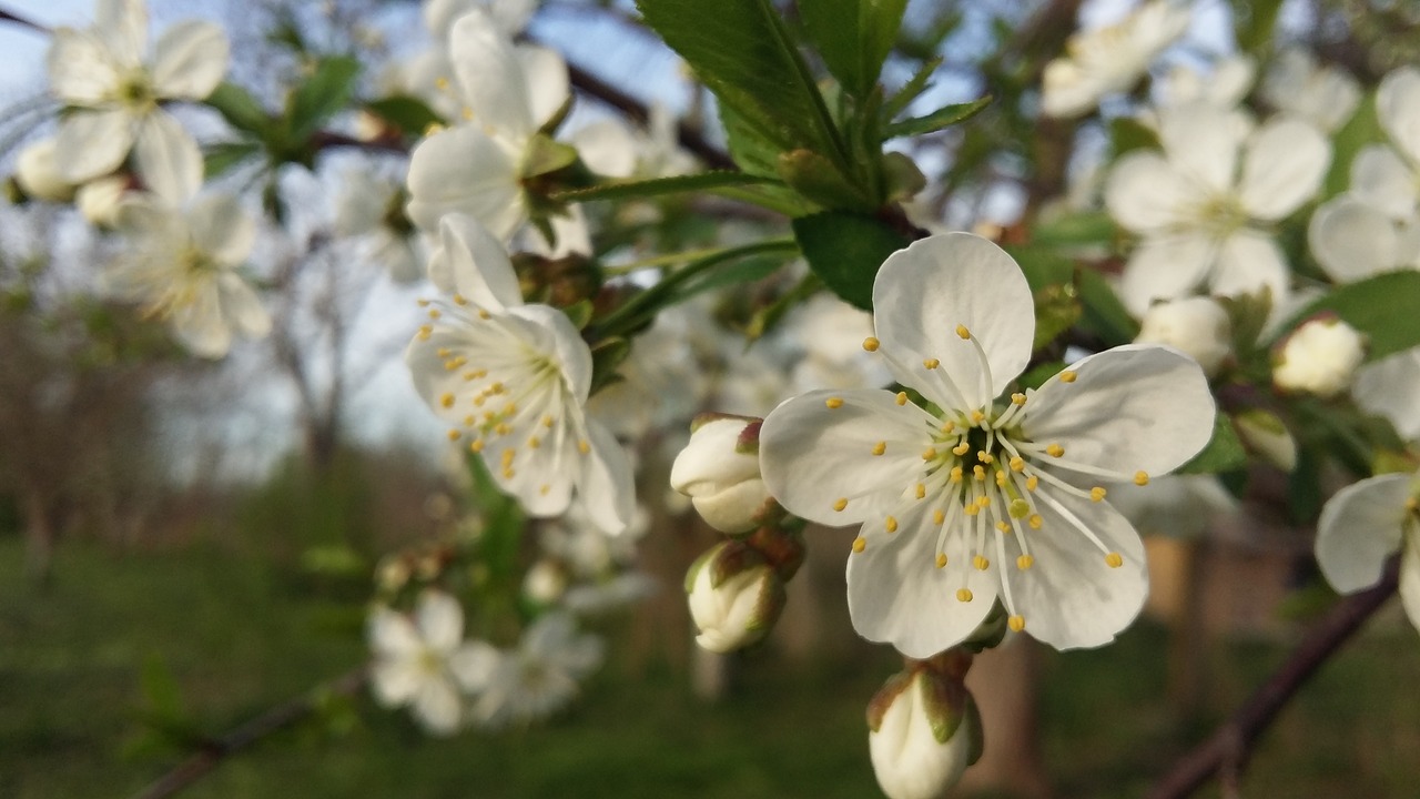
<path id="1" fill-rule="evenodd" d="M 1420 628 L 1420 482 L 1413 473 L 1352 483 L 1326 502 L 1316 523 L 1316 563 L 1333 589 L 1356 593 L 1380 581 L 1400 552 L 1400 601 Z"/>

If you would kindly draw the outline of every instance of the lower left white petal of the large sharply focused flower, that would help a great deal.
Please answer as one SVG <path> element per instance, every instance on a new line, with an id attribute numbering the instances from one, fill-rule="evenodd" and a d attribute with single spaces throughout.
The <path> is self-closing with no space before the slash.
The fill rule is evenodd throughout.
<path id="1" fill-rule="evenodd" d="M 964 536 L 946 542 L 947 564 L 936 566 L 937 526 L 932 502 L 897 513 L 889 533 L 878 516 L 863 525 L 862 552 L 848 556 L 848 611 L 853 630 L 902 654 L 929 658 L 960 644 L 985 620 L 997 596 L 997 574 L 971 567 Z M 970 601 L 957 599 L 967 589 Z"/>

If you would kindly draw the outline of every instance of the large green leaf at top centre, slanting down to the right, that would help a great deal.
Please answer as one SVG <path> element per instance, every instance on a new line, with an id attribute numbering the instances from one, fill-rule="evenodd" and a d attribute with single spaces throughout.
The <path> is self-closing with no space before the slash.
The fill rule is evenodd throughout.
<path id="1" fill-rule="evenodd" d="M 814 75 L 770 0 L 638 0 L 642 16 L 716 98 L 778 151 L 849 165 Z"/>

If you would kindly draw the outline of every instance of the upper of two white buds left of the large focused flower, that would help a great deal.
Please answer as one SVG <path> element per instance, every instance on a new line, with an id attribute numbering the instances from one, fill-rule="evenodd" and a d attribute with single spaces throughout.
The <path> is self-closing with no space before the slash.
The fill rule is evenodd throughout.
<path id="1" fill-rule="evenodd" d="M 689 495 L 700 518 L 721 533 L 753 530 L 770 503 L 760 476 L 760 422 L 700 417 L 690 427 L 690 444 L 670 466 L 670 488 Z"/>

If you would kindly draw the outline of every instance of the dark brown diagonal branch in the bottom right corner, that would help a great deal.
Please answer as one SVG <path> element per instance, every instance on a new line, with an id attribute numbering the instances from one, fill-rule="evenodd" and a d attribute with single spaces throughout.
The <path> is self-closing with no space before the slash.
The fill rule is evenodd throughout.
<path id="1" fill-rule="evenodd" d="M 1252 745 L 1312 674 L 1396 593 L 1399 573 L 1399 563 L 1392 560 L 1375 587 L 1336 603 L 1233 718 L 1179 759 L 1154 785 L 1149 799 L 1183 799 L 1214 775 L 1220 776 L 1224 789 L 1235 792 Z"/>

